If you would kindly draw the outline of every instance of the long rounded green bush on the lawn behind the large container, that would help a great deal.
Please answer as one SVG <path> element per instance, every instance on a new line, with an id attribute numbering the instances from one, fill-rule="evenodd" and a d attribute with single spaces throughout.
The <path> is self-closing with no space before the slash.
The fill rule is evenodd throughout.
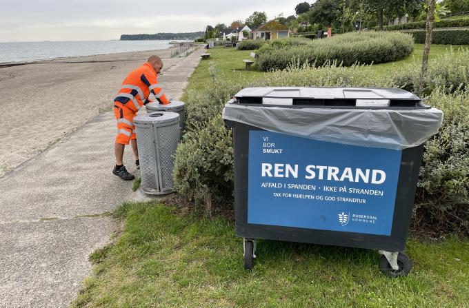
<path id="1" fill-rule="evenodd" d="M 410 35 L 399 32 L 361 32 L 310 41 L 306 45 L 272 45 L 257 52 L 261 70 L 283 70 L 292 63 L 321 66 L 337 61 L 343 66 L 355 63 L 384 63 L 406 57 L 414 48 Z"/>

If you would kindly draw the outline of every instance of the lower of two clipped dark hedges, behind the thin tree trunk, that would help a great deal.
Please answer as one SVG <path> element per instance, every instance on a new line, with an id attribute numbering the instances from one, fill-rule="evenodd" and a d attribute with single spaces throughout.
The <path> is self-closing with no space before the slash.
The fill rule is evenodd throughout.
<path id="1" fill-rule="evenodd" d="M 425 30 L 402 31 L 412 35 L 415 43 L 425 43 Z M 469 28 L 466 29 L 435 29 L 432 33 L 433 44 L 469 45 Z"/>

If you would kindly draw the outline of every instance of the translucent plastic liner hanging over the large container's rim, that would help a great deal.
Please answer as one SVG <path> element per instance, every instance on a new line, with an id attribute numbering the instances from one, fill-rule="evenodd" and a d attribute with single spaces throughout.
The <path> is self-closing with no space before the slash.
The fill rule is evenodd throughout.
<path id="1" fill-rule="evenodd" d="M 319 141 L 402 150 L 437 134 L 443 112 L 435 108 L 290 108 L 227 103 L 223 119 Z"/>

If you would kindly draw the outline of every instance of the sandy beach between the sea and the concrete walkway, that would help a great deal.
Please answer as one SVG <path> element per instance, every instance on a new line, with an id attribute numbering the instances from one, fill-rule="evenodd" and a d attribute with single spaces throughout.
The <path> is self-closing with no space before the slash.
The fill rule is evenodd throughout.
<path id="1" fill-rule="evenodd" d="M 112 110 L 126 74 L 151 54 L 163 59 L 163 73 L 180 61 L 166 49 L 0 68 L 0 177 L 97 114 Z"/>

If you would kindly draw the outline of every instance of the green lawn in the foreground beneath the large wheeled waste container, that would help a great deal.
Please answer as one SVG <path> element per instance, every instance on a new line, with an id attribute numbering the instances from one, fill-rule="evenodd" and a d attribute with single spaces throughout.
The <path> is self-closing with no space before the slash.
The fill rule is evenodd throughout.
<path id="1" fill-rule="evenodd" d="M 261 240 L 252 271 L 222 218 L 127 203 L 119 240 L 90 256 L 72 307 L 468 307 L 469 241 L 408 241 L 414 269 L 386 278 L 365 249 Z"/>

